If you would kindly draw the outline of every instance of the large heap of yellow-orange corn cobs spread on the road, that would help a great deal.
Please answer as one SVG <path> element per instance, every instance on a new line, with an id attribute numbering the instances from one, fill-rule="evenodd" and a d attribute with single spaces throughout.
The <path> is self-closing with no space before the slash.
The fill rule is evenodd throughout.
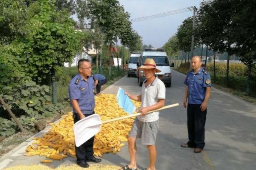
<path id="1" fill-rule="evenodd" d="M 134 102 L 134 104 L 136 107 L 140 106 L 140 102 Z M 113 94 L 97 96 L 95 106 L 95 113 L 99 114 L 102 121 L 127 115 L 119 108 L 116 95 Z M 42 163 L 52 163 L 52 159 L 62 160 L 67 156 L 76 156 L 72 112 L 62 117 L 64 119 L 57 124 L 51 124 L 52 128 L 48 133 L 34 138 L 35 141 L 26 148 L 24 156 L 39 155 L 49 158 L 42 159 Z M 102 157 L 104 153 L 115 154 L 116 151 L 120 151 L 120 147 L 124 146 L 121 142 L 127 142 L 133 122 L 134 117 L 103 124 L 94 139 L 94 156 Z"/>

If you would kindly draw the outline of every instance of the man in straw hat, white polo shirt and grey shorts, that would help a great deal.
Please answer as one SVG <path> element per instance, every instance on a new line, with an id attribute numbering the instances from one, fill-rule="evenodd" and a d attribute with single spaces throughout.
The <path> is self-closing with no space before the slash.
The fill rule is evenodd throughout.
<path id="1" fill-rule="evenodd" d="M 159 127 L 159 112 L 149 113 L 164 106 L 165 101 L 165 85 L 155 77 L 155 73 L 161 72 L 156 68 L 154 59 L 145 59 L 144 65 L 138 68 L 143 70 L 146 80 L 143 82 L 141 94 L 131 95 L 128 92 L 125 94 L 135 101 L 141 101 L 139 112 L 140 116 L 134 121 L 131 132 L 128 137 L 128 150 L 130 154 L 130 164 L 122 167 L 120 170 L 137 170 L 136 163 L 136 139 L 141 138 L 141 144 L 147 145 L 149 153 L 149 166 L 144 170 L 155 170 L 155 162 L 157 150 L 155 146 L 157 138 L 157 130 Z"/>

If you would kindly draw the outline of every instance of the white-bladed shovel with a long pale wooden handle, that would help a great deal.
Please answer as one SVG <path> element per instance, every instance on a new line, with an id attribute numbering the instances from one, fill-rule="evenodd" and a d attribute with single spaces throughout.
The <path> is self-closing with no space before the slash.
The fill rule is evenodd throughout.
<path id="1" fill-rule="evenodd" d="M 172 107 L 175 107 L 178 105 L 179 105 L 178 103 L 173 104 L 173 105 L 167 105 L 167 106 L 164 106 L 163 108 L 160 108 L 160 109 L 157 109 L 154 111 L 149 111 L 148 113 L 152 113 L 155 111 L 161 111 L 163 109 L 172 108 Z M 81 146 L 84 142 L 86 142 L 91 137 L 96 135 L 99 132 L 102 124 L 114 122 L 114 121 L 118 121 L 118 120 L 122 120 L 122 119 L 127 119 L 130 117 L 139 116 L 139 115 L 140 115 L 140 113 L 135 113 L 135 114 L 131 114 L 128 116 L 117 117 L 114 119 L 109 119 L 109 120 L 105 120 L 105 121 L 101 122 L 99 115 L 93 114 L 93 115 L 85 117 L 84 119 L 79 120 L 78 122 L 76 122 L 74 124 L 74 135 L 75 135 L 76 147 Z"/>

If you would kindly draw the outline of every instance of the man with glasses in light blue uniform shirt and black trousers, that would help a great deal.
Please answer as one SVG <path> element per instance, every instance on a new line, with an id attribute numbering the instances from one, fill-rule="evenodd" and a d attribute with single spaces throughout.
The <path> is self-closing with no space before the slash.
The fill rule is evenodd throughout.
<path id="1" fill-rule="evenodd" d="M 70 104 L 73 107 L 74 123 L 94 114 L 94 94 L 95 82 L 91 77 L 91 63 L 88 59 L 80 59 L 78 71 L 69 85 Z M 87 161 L 100 162 L 93 156 L 94 136 L 79 147 L 76 147 L 76 162 L 80 167 L 89 167 Z"/>

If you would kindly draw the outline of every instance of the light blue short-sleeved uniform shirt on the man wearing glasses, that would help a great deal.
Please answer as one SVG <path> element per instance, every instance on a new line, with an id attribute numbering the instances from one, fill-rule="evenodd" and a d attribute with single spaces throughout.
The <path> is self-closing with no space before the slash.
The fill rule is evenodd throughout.
<path id="1" fill-rule="evenodd" d="M 69 85 L 70 105 L 72 106 L 71 100 L 76 99 L 83 114 L 93 113 L 95 107 L 94 88 L 93 77 L 88 77 L 86 81 L 80 74 L 77 74 L 71 79 Z M 73 112 L 76 113 L 74 108 Z"/>

